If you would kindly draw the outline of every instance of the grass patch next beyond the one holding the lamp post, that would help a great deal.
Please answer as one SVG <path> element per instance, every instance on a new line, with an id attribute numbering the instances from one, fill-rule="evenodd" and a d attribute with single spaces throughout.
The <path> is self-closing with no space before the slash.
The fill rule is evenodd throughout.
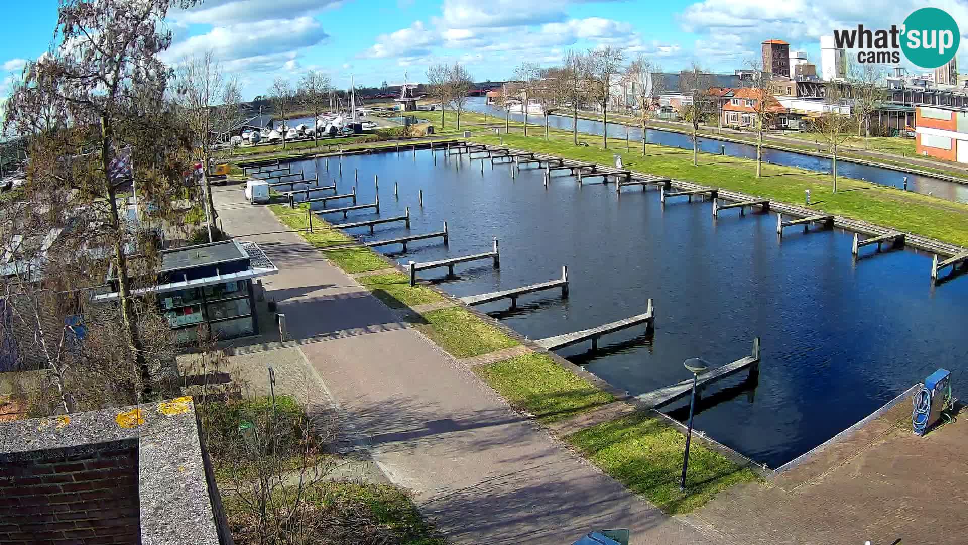
<path id="1" fill-rule="evenodd" d="M 525 354 L 473 370 L 512 406 L 542 422 L 568 418 L 615 401 L 611 394 L 561 368 L 545 354 Z"/>

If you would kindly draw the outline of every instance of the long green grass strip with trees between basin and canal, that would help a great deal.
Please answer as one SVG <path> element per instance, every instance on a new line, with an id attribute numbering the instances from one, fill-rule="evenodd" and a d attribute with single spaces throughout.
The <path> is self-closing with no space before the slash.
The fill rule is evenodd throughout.
<path id="1" fill-rule="evenodd" d="M 839 177 L 837 193 L 832 193 L 832 176 L 811 173 L 793 167 L 763 165 L 762 177 L 755 176 L 756 162 L 739 157 L 699 154 L 699 166 L 692 166 L 692 151 L 656 144 L 649 145 L 649 155 L 633 147 L 626 152 L 624 141 L 610 140 L 602 149 L 601 138 L 579 135 L 588 146 L 571 144 L 571 133 L 555 131 L 552 140 L 502 135 L 504 145 L 568 157 L 571 159 L 612 164 L 612 155 L 620 153 L 628 168 L 741 191 L 794 205 L 802 205 L 803 191 L 811 192 L 814 208 L 828 213 L 909 231 L 926 237 L 968 245 L 968 205 L 962 205 L 914 192 L 875 185 L 861 180 Z M 479 136 L 472 140 L 498 144 L 497 136 Z"/>

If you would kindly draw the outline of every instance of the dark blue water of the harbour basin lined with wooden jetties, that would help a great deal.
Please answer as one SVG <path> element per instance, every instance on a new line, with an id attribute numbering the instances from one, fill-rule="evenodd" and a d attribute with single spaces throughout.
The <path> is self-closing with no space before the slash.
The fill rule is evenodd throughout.
<path id="1" fill-rule="evenodd" d="M 654 337 L 643 328 L 560 351 L 572 361 L 633 394 L 688 378 L 686 358 L 699 356 L 723 365 L 749 353 L 751 339 L 763 339 L 759 382 L 745 373 L 712 387 L 696 417 L 698 429 L 771 467 L 782 465 L 839 433 L 890 401 L 934 369 L 963 370 L 962 342 L 968 321 L 968 275 L 930 286 L 929 255 L 886 251 L 853 263 L 851 237 L 840 231 L 804 234 L 791 228 L 782 240 L 772 214 L 728 210 L 716 220 L 710 202 L 670 202 L 658 192 L 612 185 L 579 186 L 573 176 L 553 176 L 546 190 L 541 171 L 467 159 L 437 163 L 429 151 L 351 156 L 302 164 L 307 176 L 337 179 L 340 193 L 359 169 L 359 203 L 374 200 L 379 176 L 382 216 L 410 208 L 410 234 L 450 227 L 450 244 L 414 242 L 400 263 L 488 251 L 498 237 L 500 269 L 490 261 L 423 272 L 456 296 L 467 296 L 550 280 L 567 265 L 571 295 L 532 294 L 520 307 L 508 302 L 481 306 L 530 338 L 580 330 L 656 306 Z M 460 167 L 458 169 L 458 166 Z M 400 187 L 393 195 L 393 182 Z M 424 191 L 424 208 L 417 205 Z M 627 191 L 627 192 L 626 192 Z M 329 208 L 348 206 L 330 205 Z M 377 217 L 351 212 L 348 220 Z M 354 230 L 364 240 L 408 234 L 400 226 Z M 396 251 L 399 246 L 388 246 Z M 867 257 L 873 256 L 873 257 Z M 955 386 L 957 389 L 957 386 Z M 667 407 L 674 416 L 686 414 Z"/>

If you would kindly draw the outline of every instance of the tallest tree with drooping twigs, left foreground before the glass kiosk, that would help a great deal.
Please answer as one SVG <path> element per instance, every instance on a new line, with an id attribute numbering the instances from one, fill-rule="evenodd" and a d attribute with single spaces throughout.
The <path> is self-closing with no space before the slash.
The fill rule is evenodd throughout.
<path id="1" fill-rule="evenodd" d="M 182 192 L 186 145 L 177 118 L 167 112 L 172 74 L 158 58 L 171 44 L 163 24 L 170 8 L 194 0 L 64 0 L 58 7 L 54 43 L 60 46 L 30 63 L 24 85 L 10 98 L 4 126 L 33 131 L 37 112 L 63 115 L 72 130 L 49 131 L 31 144 L 28 183 L 81 195 L 105 213 L 92 226 L 100 246 L 111 248 L 118 284 L 121 337 L 130 355 L 138 400 L 153 397 L 152 378 L 139 334 L 130 244 L 142 231 L 122 217 L 120 194 L 136 179 L 137 198 L 155 214 L 170 214 L 171 196 Z M 65 157 L 81 155 L 76 161 Z M 121 164 L 130 175 L 120 174 Z M 95 229 L 96 227 L 96 229 Z M 136 246 L 138 247 L 138 246 Z M 141 247 L 144 249 L 144 247 Z"/>

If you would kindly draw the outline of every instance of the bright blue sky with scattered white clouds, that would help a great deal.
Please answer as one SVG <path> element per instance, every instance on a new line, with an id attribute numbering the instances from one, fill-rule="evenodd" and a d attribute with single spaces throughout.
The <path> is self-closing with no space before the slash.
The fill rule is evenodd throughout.
<path id="1" fill-rule="evenodd" d="M 0 41 L 5 95 L 24 60 L 49 47 L 57 0 L 3 4 L 4 18 L 16 21 Z M 438 62 L 461 62 L 478 81 L 507 80 L 524 61 L 552 66 L 569 48 L 604 45 L 669 72 L 696 62 L 732 73 L 759 58 L 763 40 L 781 39 L 806 51 L 819 73 L 820 36 L 858 23 L 888 28 L 928 5 L 948 11 L 968 38 L 968 0 L 205 0 L 169 13 L 174 42 L 164 57 L 174 64 L 214 51 L 247 100 L 307 70 L 341 88 L 350 75 L 366 86 L 423 81 Z"/>

